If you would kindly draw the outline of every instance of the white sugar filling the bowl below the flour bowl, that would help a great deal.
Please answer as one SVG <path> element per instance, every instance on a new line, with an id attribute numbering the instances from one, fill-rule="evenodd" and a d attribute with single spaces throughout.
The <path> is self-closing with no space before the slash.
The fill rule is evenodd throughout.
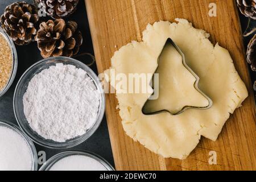
<path id="1" fill-rule="evenodd" d="M 50 171 L 107 171 L 107 169 L 88 156 L 71 155 L 53 164 Z"/>

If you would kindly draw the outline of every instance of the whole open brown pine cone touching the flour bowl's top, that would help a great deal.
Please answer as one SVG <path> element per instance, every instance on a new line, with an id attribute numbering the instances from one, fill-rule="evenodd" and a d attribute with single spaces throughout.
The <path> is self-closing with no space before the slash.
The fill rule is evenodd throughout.
<path id="1" fill-rule="evenodd" d="M 48 20 L 40 24 L 35 39 L 41 55 L 72 57 L 79 52 L 82 45 L 82 34 L 77 29 L 77 23 L 63 19 Z"/>

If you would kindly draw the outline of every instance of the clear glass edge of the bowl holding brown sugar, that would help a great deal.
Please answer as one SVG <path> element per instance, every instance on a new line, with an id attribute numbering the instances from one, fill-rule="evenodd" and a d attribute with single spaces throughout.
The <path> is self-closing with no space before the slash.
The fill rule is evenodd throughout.
<path id="1" fill-rule="evenodd" d="M 6 39 L 7 43 L 9 44 L 11 48 L 11 54 L 13 55 L 13 69 L 11 71 L 11 75 L 9 78 L 9 81 L 6 83 L 5 87 L 0 90 L 0 98 L 7 92 L 7 90 L 10 88 L 11 84 L 13 84 L 14 78 L 16 76 L 16 71 L 18 68 L 18 55 L 16 52 L 15 45 L 13 43 L 13 40 L 9 37 L 9 35 L 6 34 L 6 32 L 0 27 L 0 34 Z"/>

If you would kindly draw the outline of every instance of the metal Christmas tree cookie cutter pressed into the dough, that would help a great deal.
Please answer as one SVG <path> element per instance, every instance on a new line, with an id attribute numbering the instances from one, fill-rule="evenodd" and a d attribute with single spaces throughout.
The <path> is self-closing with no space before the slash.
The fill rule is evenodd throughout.
<path id="1" fill-rule="evenodd" d="M 171 38 L 168 38 L 168 39 L 167 39 L 166 44 L 164 44 L 164 47 L 163 47 L 163 49 L 162 49 L 162 52 L 164 51 L 164 48 L 166 48 L 166 46 L 167 46 L 168 44 L 171 44 L 172 46 L 174 46 L 174 48 L 177 50 L 177 52 L 180 53 L 180 55 L 181 55 L 181 57 L 182 57 L 182 63 L 183 63 L 183 65 L 184 65 L 184 67 L 187 68 L 188 71 L 196 78 L 196 81 L 195 81 L 195 84 L 194 84 L 195 89 L 197 90 L 197 92 L 199 92 L 202 96 L 204 96 L 204 97 L 208 100 L 209 105 L 206 106 L 206 107 L 184 106 L 183 109 L 181 109 L 180 111 L 177 111 L 176 113 L 174 113 L 174 112 L 172 112 L 172 111 L 170 111 L 170 110 L 159 110 L 159 111 L 154 111 L 154 112 L 152 112 L 151 110 L 148 110 L 148 109 L 146 108 L 146 105 L 147 105 L 148 101 L 151 100 L 150 98 L 151 98 L 152 95 L 154 94 L 154 93 L 153 93 L 150 97 L 148 97 L 148 100 L 147 100 L 146 103 L 143 105 L 143 107 L 142 107 L 142 113 L 145 114 L 145 115 L 154 115 L 154 114 L 159 114 L 159 113 L 163 113 L 163 112 L 168 112 L 168 113 L 170 113 L 171 115 L 178 115 L 178 114 L 183 113 L 183 112 L 184 112 L 185 110 L 187 110 L 187 109 L 197 109 L 197 110 L 209 109 L 209 108 L 212 107 L 212 105 L 213 105 L 212 100 L 211 100 L 202 90 L 199 89 L 199 86 L 198 86 L 199 80 L 200 80 L 199 76 L 197 76 L 196 73 L 193 72 L 192 69 L 186 64 L 184 53 L 183 53 L 183 52 L 181 51 L 181 49 L 174 43 L 174 41 L 173 41 Z M 158 57 L 158 64 L 159 64 L 159 60 L 160 60 L 160 57 L 161 57 L 161 55 L 162 55 L 162 52 L 160 53 L 160 55 L 159 55 L 159 57 Z M 158 71 L 158 68 L 156 68 L 156 71 Z M 155 71 L 155 73 L 156 73 L 156 71 Z M 154 85 L 155 85 L 155 84 L 152 84 L 153 81 L 154 81 L 154 76 L 152 77 L 152 80 L 151 80 L 151 85 L 152 85 L 152 88 L 154 89 Z"/>

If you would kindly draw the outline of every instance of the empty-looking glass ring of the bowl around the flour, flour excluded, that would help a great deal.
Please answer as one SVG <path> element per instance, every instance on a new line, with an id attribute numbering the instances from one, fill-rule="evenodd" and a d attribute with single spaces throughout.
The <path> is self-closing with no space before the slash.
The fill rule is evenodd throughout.
<path id="1" fill-rule="evenodd" d="M 66 65 L 67 64 L 75 65 L 75 67 L 81 68 L 84 71 L 86 71 L 88 73 L 88 76 L 92 78 L 97 90 L 100 92 L 100 105 L 98 108 L 97 119 L 94 125 L 88 131 L 86 131 L 84 135 L 67 140 L 66 142 L 55 142 L 53 140 L 48 140 L 41 137 L 38 133 L 36 133 L 34 130 L 31 129 L 23 111 L 23 96 L 24 96 L 24 93 L 26 93 L 27 91 L 28 83 L 30 82 L 30 80 L 36 74 L 42 72 L 44 69 L 48 69 L 49 67 L 56 65 L 57 63 L 63 63 Z M 35 143 L 38 143 L 39 145 L 47 148 L 56 148 L 56 149 L 71 148 L 71 147 L 77 146 L 78 144 L 84 142 L 86 139 L 92 136 L 93 133 L 100 126 L 100 123 L 105 113 L 105 94 L 102 89 L 101 82 L 98 79 L 97 75 L 92 71 L 92 69 L 90 69 L 84 63 L 81 63 L 80 61 L 69 58 L 69 57 L 49 57 L 47 59 L 39 61 L 38 63 L 35 63 L 30 68 L 28 68 L 27 71 L 22 75 L 18 84 L 16 85 L 16 89 L 14 92 L 13 106 L 14 106 L 14 114 L 20 128 Z"/>

